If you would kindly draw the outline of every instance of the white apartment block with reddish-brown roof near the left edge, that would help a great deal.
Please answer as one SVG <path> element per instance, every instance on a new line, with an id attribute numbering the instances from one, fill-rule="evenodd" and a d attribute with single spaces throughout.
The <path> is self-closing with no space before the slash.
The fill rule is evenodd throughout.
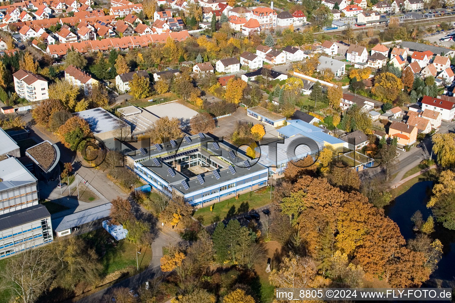
<path id="1" fill-rule="evenodd" d="M 47 80 L 27 70 L 18 70 L 13 74 L 14 88 L 20 98 L 29 102 L 49 99 Z"/>

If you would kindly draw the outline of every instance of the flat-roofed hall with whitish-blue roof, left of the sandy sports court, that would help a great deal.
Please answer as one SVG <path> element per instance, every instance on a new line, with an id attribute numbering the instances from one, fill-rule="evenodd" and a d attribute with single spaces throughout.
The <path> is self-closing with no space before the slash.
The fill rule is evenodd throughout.
<path id="1" fill-rule="evenodd" d="M 75 115 L 87 121 L 90 130 L 98 140 L 126 139 L 131 136 L 130 125 L 101 107 L 83 110 L 75 113 Z"/>

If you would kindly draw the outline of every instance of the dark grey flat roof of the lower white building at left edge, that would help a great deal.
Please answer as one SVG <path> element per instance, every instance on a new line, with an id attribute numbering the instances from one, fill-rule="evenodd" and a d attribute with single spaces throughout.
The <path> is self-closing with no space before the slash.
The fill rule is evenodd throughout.
<path id="1" fill-rule="evenodd" d="M 14 212 L 0 215 L 0 230 L 47 217 L 51 217 L 51 214 L 49 214 L 49 211 L 44 205 L 32 205 L 25 209 L 15 210 Z"/>

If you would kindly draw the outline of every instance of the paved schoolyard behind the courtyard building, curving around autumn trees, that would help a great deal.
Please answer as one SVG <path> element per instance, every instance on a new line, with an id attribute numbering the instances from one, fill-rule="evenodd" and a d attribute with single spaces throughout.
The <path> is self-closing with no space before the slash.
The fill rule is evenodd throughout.
<path id="1" fill-rule="evenodd" d="M 264 125 L 266 134 L 263 139 L 271 139 L 278 136 L 277 130 L 272 126 L 263 124 L 258 120 L 247 116 L 247 110 L 243 107 L 238 107 L 238 109 L 228 117 L 218 119 L 217 125 L 220 127 L 217 129 L 213 129 L 211 133 L 220 138 L 222 137 L 231 138 L 238 121 L 250 122 L 253 124 L 260 123 Z"/>

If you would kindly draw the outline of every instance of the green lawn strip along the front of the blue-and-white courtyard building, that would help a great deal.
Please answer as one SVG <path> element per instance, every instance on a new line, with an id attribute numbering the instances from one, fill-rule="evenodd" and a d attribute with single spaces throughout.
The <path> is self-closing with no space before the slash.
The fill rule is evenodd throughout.
<path id="1" fill-rule="evenodd" d="M 242 214 L 251 209 L 257 209 L 261 206 L 271 203 L 270 187 L 266 187 L 255 192 L 241 194 L 238 200 L 235 197 L 227 199 L 202 209 L 197 209 L 193 217 L 200 220 L 202 224 L 212 224 L 226 218 L 233 217 L 237 214 Z M 210 206 L 213 211 L 210 212 Z"/>

